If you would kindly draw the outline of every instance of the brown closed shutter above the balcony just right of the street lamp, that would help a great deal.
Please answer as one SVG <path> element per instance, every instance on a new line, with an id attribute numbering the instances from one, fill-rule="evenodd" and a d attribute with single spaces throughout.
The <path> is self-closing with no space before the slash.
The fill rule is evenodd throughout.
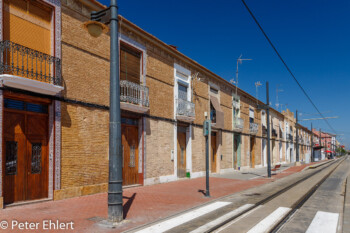
<path id="1" fill-rule="evenodd" d="M 120 79 L 140 84 L 141 53 L 129 46 L 120 46 Z"/>

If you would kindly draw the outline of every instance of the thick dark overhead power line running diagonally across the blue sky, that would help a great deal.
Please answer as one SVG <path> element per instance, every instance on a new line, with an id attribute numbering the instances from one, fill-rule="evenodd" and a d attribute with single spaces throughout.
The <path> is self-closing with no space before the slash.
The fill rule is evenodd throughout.
<path id="1" fill-rule="evenodd" d="M 333 129 L 333 127 L 329 124 L 328 120 L 323 116 L 323 114 L 320 112 L 320 110 L 317 108 L 317 106 L 314 104 L 314 102 L 312 101 L 311 97 L 306 93 L 306 91 L 304 90 L 304 88 L 301 86 L 301 84 L 299 83 L 299 81 L 296 79 L 296 77 L 294 76 L 293 72 L 291 71 L 291 69 L 289 69 L 287 63 L 284 61 L 284 59 L 282 58 L 282 56 L 280 55 L 280 53 L 278 52 L 278 50 L 276 49 L 276 47 L 273 45 L 273 43 L 271 42 L 270 38 L 267 36 L 267 34 L 265 33 L 264 29 L 261 27 L 260 23 L 258 22 L 258 20 L 255 18 L 254 14 L 252 13 L 252 11 L 249 9 L 249 7 L 247 6 L 247 4 L 245 3 L 244 0 L 241 0 L 242 3 L 244 4 L 245 8 L 248 10 L 250 16 L 252 16 L 253 20 L 255 21 L 255 23 L 258 25 L 258 27 L 260 28 L 261 32 L 264 34 L 266 40 L 269 42 L 269 44 L 271 45 L 272 49 L 275 51 L 275 53 L 277 54 L 277 56 L 279 57 L 279 59 L 281 60 L 281 62 L 283 63 L 283 65 L 286 67 L 286 69 L 288 70 L 288 72 L 290 73 L 290 75 L 293 77 L 294 81 L 298 84 L 298 86 L 300 87 L 300 89 L 302 90 L 302 92 L 305 94 L 305 96 L 308 98 L 308 100 L 310 101 L 310 103 L 312 104 L 312 106 L 314 106 L 314 108 L 316 109 L 316 111 L 320 114 L 320 116 L 324 119 L 324 121 L 327 123 L 327 125 L 329 126 L 330 129 L 333 130 L 333 132 L 335 134 L 336 131 Z"/>

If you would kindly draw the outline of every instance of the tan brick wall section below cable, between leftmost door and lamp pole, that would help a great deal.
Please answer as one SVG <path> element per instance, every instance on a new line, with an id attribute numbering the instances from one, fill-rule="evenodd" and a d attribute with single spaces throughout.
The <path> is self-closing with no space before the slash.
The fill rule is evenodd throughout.
<path id="1" fill-rule="evenodd" d="M 107 183 L 108 111 L 62 103 L 61 188 Z"/>

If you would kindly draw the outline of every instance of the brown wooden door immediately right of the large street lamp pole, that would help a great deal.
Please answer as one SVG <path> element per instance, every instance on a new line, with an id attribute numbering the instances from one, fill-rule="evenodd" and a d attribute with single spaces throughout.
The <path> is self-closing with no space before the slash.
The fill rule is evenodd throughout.
<path id="1" fill-rule="evenodd" d="M 138 128 L 122 125 L 123 185 L 138 184 Z"/>

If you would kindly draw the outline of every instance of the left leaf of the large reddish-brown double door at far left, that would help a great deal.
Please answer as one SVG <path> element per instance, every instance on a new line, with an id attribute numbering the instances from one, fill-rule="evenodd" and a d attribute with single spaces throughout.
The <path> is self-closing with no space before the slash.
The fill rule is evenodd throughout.
<path id="1" fill-rule="evenodd" d="M 25 200 L 25 117 L 20 113 L 4 113 L 3 181 L 4 203 Z"/>

